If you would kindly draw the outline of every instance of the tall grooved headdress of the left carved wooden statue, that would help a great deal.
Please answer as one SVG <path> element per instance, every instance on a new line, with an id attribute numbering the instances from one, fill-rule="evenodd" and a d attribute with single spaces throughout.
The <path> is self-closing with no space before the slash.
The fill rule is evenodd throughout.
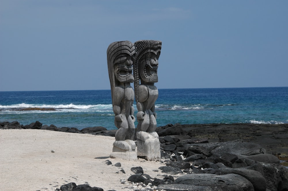
<path id="1" fill-rule="evenodd" d="M 133 56 L 135 53 L 135 47 L 133 43 L 130 41 L 117 41 L 113 42 L 108 46 L 107 49 L 107 65 L 108 65 L 108 73 L 109 80 L 111 86 L 111 97 L 112 104 L 114 105 L 114 90 L 115 87 L 118 86 L 119 81 L 115 78 L 114 74 L 114 65 L 116 60 L 121 60 L 121 58 Z"/>

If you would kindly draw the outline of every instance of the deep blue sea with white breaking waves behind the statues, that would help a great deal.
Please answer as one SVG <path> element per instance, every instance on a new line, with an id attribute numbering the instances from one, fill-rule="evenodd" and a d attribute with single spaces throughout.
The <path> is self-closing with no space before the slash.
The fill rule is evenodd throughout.
<path id="1" fill-rule="evenodd" d="M 53 108 L 55 111 L 28 110 Z M 137 108 L 134 104 L 135 113 Z M 157 126 L 288 123 L 288 87 L 159 89 Z M 0 122 L 60 127 L 114 126 L 110 90 L 0 92 Z M 137 122 L 135 122 L 135 125 Z"/>

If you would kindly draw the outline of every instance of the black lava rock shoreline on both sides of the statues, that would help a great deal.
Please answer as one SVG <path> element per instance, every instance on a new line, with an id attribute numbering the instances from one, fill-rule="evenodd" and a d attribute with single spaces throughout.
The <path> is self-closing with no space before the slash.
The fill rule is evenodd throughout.
<path id="1" fill-rule="evenodd" d="M 17 121 L 2 122 L 0 128 L 45 129 L 105 136 L 113 136 L 116 132 L 104 127 L 78 130 L 42 126 L 39 121 L 29 125 L 20 125 Z M 123 180 L 129 185 L 126 189 L 288 190 L 288 169 L 279 160 L 287 162 L 288 124 L 168 124 L 157 128 L 157 132 L 163 162 L 158 171 L 165 175 L 153 178 L 143 174 L 141 167 L 139 171 L 131 169 L 135 175 Z M 106 165 L 111 164 L 107 161 Z M 69 185 L 63 185 L 60 189 L 101 190 L 88 185 Z"/>

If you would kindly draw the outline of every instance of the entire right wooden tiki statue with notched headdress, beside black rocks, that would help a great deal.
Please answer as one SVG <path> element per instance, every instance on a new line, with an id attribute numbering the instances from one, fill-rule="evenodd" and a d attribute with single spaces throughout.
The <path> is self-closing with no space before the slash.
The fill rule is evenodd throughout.
<path id="1" fill-rule="evenodd" d="M 157 127 L 155 101 L 158 89 L 158 58 L 162 42 L 159 40 L 139 40 L 134 43 L 136 53 L 133 64 L 134 91 L 137 104 L 137 155 L 148 161 L 159 161 L 160 142 L 155 132 Z"/>

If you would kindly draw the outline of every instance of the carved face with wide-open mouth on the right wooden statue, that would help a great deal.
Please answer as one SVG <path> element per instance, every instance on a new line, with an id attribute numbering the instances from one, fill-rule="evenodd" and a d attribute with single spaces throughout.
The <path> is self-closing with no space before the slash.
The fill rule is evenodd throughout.
<path id="1" fill-rule="evenodd" d="M 140 61 L 139 73 L 144 82 L 158 82 L 158 57 L 152 52 L 146 53 Z"/>

